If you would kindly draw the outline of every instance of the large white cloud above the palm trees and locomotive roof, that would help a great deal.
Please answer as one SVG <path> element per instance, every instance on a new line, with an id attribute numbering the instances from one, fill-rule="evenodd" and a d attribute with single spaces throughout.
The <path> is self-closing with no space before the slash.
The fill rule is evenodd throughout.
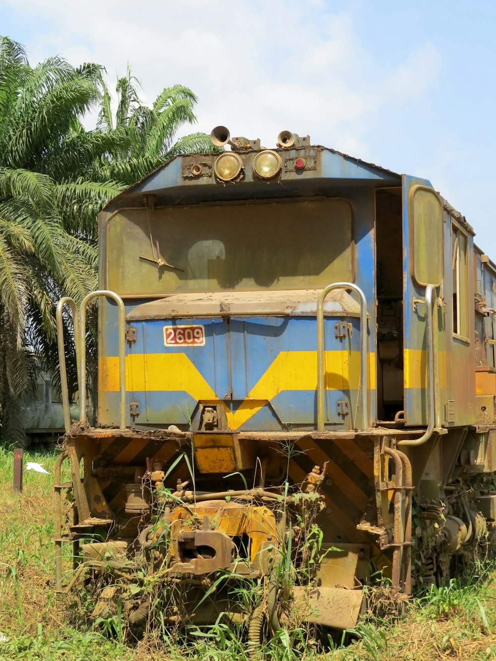
<path id="1" fill-rule="evenodd" d="M 367 133 L 381 112 L 422 97 L 439 71 L 434 46 L 419 45 L 384 73 L 351 15 L 329 3 L 205 3 L 9 0 L 15 11 L 49 24 L 26 48 L 72 63 L 98 61 L 112 83 L 127 61 L 151 102 L 166 85 L 188 85 L 200 102 L 198 129 L 225 124 L 233 135 L 272 146 L 282 129 L 370 157 Z M 44 28 L 42 28 L 44 29 Z M 430 75 L 427 64 L 434 62 Z"/>

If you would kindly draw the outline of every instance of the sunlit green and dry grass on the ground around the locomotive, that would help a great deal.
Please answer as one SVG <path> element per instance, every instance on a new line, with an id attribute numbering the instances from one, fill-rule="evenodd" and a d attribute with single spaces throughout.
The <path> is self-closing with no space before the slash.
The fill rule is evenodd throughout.
<path id="1" fill-rule="evenodd" d="M 13 453 L 0 446 L 0 632 L 6 638 L 0 641 L 0 660 L 247 660 L 238 631 L 222 623 L 190 631 L 187 641 L 158 627 L 134 646 L 115 620 L 101 619 L 96 626 L 85 618 L 91 603 L 82 592 L 55 593 L 52 485 L 57 456 L 57 451 L 24 453 L 24 465 L 36 461 L 50 475 L 25 471 L 24 490 L 18 494 L 12 488 Z M 69 572 L 68 562 L 65 569 Z M 266 658 L 281 661 L 496 661 L 496 568 L 479 568 L 469 586 L 452 581 L 431 588 L 409 603 L 403 617 L 371 615 L 352 634 L 336 636 L 325 654 L 318 647 L 308 632 L 295 629 L 263 651 Z"/>

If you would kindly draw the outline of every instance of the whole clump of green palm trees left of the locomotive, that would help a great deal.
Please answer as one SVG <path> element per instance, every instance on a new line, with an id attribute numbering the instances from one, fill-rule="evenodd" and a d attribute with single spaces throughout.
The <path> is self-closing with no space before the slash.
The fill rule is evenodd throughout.
<path id="1" fill-rule="evenodd" d="M 56 377 L 56 301 L 79 303 L 96 287 L 102 206 L 177 153 L 212 149 L 205 134 L 174 141 L 196 121 L 186 87 L 147 108 L 128 69 L 112 117 L 103 71 L 58 57 L 30 67 L 22 46 L 0 37 L 0 418 L 11 436 L 22 437 L 30 355 Z M 95 108 L 98 126 L 87 131 L 81 120 Z M 75 373 L 69 365 L 71 393 Z"/>

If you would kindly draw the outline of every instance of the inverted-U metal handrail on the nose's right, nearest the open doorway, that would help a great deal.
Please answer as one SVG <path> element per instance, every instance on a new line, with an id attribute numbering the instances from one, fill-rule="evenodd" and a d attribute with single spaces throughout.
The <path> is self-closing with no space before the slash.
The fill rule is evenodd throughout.
<path id="1" fill-rule="evenodd" d="M 367 406 L 367 301 L 362 290 L 351 282 L 334 282 L 319 293 L 317 300 L 317 429 L 324 426 L 324 301 L 329 292 L 351 289 L 360 298 L 360 401 L 364 430 L 368 429 Z"/>

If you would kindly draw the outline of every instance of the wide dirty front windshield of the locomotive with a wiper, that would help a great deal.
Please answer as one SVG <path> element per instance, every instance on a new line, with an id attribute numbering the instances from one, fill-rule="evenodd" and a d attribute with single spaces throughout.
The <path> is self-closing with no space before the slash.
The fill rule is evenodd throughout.
<path id="1" fill-rule="evenodd" d="M 106 226 L 106 288 L 120 295 L 323 288 L 354 280 L 341 198 L 121 210 Z"/>

